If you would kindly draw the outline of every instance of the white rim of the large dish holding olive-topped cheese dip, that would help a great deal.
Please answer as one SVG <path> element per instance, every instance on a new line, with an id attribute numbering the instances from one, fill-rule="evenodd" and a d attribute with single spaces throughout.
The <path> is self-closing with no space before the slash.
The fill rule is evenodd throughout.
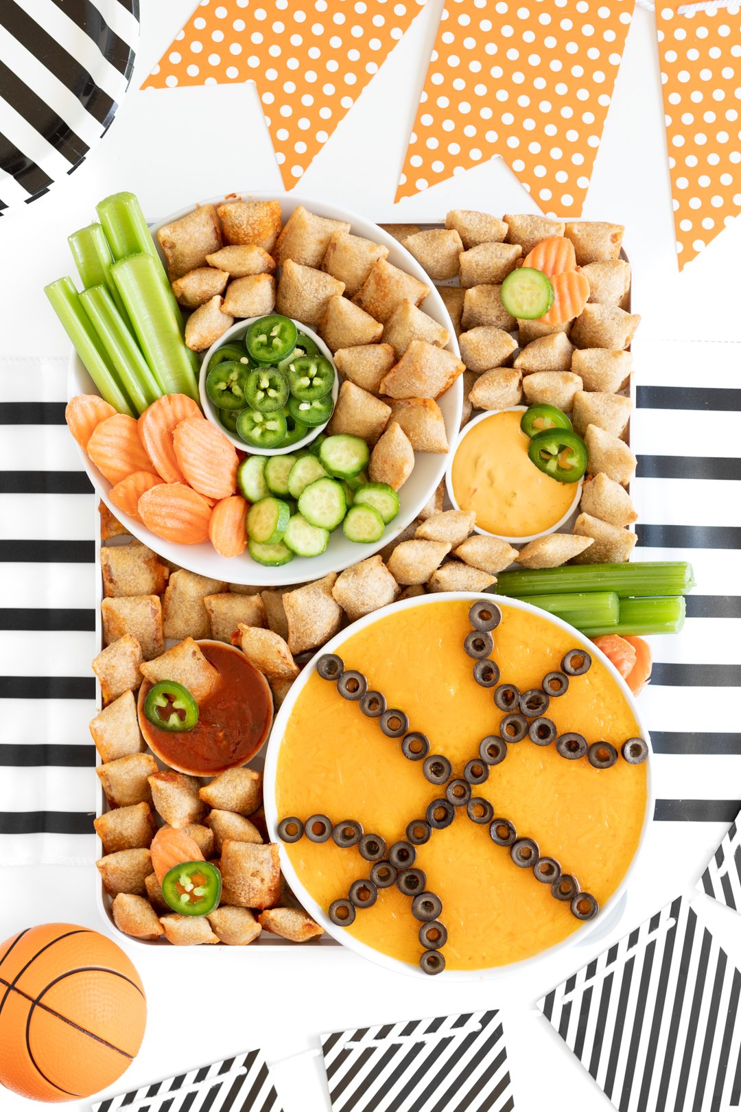
<path id="1" fill-rule="evenodd" d="M 523 967 L 532 969 L 537 963 L 543 961 L 545 957 L 550 957 L 557 951 L 565 950 L 569 945 L 574 945 L 577 942 L 581 943 L 582 941 L 584 941 L 587 936 L 591 934 L 592 931 L 594 931 L 604 921 L 609 909 L 612 909 L 618 905 L 620 897 L 625 893 L 628 888 L 631 875 L 635 871 L 637 862 L 640 861 L 643 854 L 648 837 L 648 831 L 651 826 L 651 821 L 653 816 L 653 810 L 654 810 L 653 768 L 652 768 L 653 749 L 651 746 L 651 738 L 645 727 L 645 723 L 643 722 L 643 717 L 635 704 L 635 699 L 630 688 L 628 687 L 622 676 L 618 673 L 617 668 L 610 663 L 604 653 L 602 653 L 602 651 L 598 648 L 598 646 L 594 645 L 592 642 L 590 642 L 587 637 L 582 636 L 582 634 L 580 634 L 577 629 L 568 625 L 568 623 L 562 622 L 561 618 L 558 618 L 552 614 L 547 614 L 544 610 L 538 609 L 537 607 L 531 606 L 529 603 L 523 603 L 515 598 L 504 598 L 502 596 L 493 594 L 491 595 L 477 594 L 472 592 L 455 590 L 455 592 L 447 592 L 447 593 L 432 594 L 425 596 L 418 596 L 414 598 L 405 598 L 402 599 L 401 602 L 391 603 L 390 606 L 383 606 L 381 609 L 374 610 L 372 614 L 367 614 L 364 617 L 359 618 L 357 622 L 354 622 L 347 629 L 342 629 L 339 634 L 337 634 L 337 636 L 332 637 L 332 639 L 329 641 L 322 647 L 321 652 L 317 653 L 317 655 L 312 658 L 312 661 L 302 669 L 299 677 L 292 684 L 288 695 L 286 696 L 286 699 L 283 701 L 276 716 L 276 721 L 273 723 L 270 737 L 268 738 L 268 747 L 266 752 L 266 764 L 263 772 L 263 777 L 264 777 L 263 806 L 266 812 L 266 821 L 268 824 L 268 832 L 270 834 L 271 841 L 278 843 L 280 852 L 281 870 L 289 883 L 289 886 L 296 893 L 297 898 L 299 900 L 301 905 L 306 907 L 306 910 L 317 920 L 318 923 L 321 924 L 321 926 L 324 927 L 328 934 L 330 934 L 333 939 L 336 939 L 336 941 L 342 943 L 342 945 L 347 946 L 349 950 L 352 950 L 360 956 L 374 962 L 377 965 L 382 965 L 384 969 L 391 970 L 395 973 L 403 973 L 409 976 L 423 977 L 424 980 L 429 980 L 428 974 L 423 973 L 421 969 L 419 969 L 419 966 L 410 965 L 407 962 L 402 962 L 397 957 L 389 957 L 387 954 L 383 954 L 380 951 L 374 950 L 367 943 L 360 942 L 358 939 L 353 937 L 353 935 L 343 932 L 342 927 L 334 926 L 334 924 L 329 919 L 326 910 L 322 906 L 320 906 L 320 904 L 318 904 L 317 901 L 313 898 L 313 896 L 307 891 L 301 878 L 299 877 L 298 873 L 293 867 L 293 864 L 288 855 L 286 846 L 278 837 L 279 818 L 276 806 L 276 774 L 278 770 L 278 753 L 286 731 L 286 726 L 288 724 L 288 719 L 293 711 L 293 707 L 296 705 L 299 695 L 301 694 L 303 687 L 307 684 L 309 676 L 314 671 L 317 666 L 317 659 L 319 658 L 320 655 L 324 653 L 338 652 L 342 646 L 342 644 L 348 639 L 348 637 L 352 637 L 361 629 L 366 629 L 368 628 L 368 626 L 374 625 L 375 622 L 382 620 L 390 613 L 395 614 L 402 608 L 411 609 L 415 606 L 429 606 L 433 605 L 434 603 L 449 602 L 452 599 L 470 600 L 471 603 L 474 603 L 477 599 L 481 598 L 497 602 L 504 606 L 511 606 L 514 609 L 524 610 L 525 613 L 529 614 L 535 614 L 541 618 L 544 617 L 553 625 L 558 626 L 561 629 L 565 629 L 568 633 L 570 633 L 574 637 L 577 644 L 588 648 L 590 655 L 593 658 L 600 661 L 608 668 L 611 676 L 615 679 L 620 692 L 628 702 L 628 705 L 630 706 L 635 717 L 641 737 L 645 739 L 649 746 L 649 757 L 647 766 L 645 811 L 643 814 L 643 825 L 641 827 L 641 835 L 639 838 L 639 843 L 635 848 L 635 853 L 633 854 L 632 861 L 628 866 L 628 870 L 625 871 L 625 875 L 623 876 L 622 881 L 620 882 L 615 891 L 612 893 L 610 898 L 602 905 L 602 907 L 600 909 L 600 914 L 594 920 L 592 920 L 589 923 L 584 923 L 582 927 L 578 929 L 577 931 L 573 931 L 565 939 L 562 939 L 561 942 L 558 942 L 554 945 L 549 946 L 548 949 L 541 951 L 539 954 L 533 954 L 531 957 L 524 957 L 519 962 L 512 962 L 509 965 L 495 965 L 480 970 L 445 970 L 445 972 L 443 973 L 444 983 L 450 983 L 451 981 L 471 983 L 482 980 L 493 980 L 497 976 L 511 973 L 512 971 L 517 971 L 519 969 Z"/>

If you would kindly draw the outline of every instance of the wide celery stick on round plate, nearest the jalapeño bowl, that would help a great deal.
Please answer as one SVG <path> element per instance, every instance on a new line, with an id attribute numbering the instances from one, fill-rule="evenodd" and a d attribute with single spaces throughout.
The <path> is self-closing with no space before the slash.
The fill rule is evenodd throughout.
<path id="1" fill-rule="evenodd" d="M 198 401 L 191 356 L 151 255 L 132 255 L 111 267 L 139 345 L 162 394 Z"/>

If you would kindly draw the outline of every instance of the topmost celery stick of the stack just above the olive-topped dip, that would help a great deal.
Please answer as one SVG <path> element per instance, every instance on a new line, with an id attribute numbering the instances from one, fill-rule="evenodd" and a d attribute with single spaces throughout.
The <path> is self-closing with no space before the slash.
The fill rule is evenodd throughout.
<path id="1" fill-rule="evenodd" d="M 692 565 L 684 560 L 635 564 L 569 564 L 564 567 L 502 572 L 498 595 L 530 595 L 614 590 L 619 598 L 683 595 L 694 586 Z"/>

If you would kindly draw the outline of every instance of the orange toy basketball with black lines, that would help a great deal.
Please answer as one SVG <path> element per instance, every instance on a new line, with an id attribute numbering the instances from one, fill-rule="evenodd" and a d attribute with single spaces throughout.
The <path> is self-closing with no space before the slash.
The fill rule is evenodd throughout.
<path id="1" fill-rule="evenodd" d="M 102 934 L 50 923 L 0 944 L 0 1082 L 22 1096 L 70 1101 L 110 1085 L 146 1022 L 139 974 Z"/>

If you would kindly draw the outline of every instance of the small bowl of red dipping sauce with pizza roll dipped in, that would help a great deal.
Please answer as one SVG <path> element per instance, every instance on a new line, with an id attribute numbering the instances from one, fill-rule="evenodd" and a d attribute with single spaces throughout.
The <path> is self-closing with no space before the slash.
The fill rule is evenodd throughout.
<path id="1" fill-rule="evenodd" d="M 192 729 L 170 733 L 154 726 L 144 714 L 144 699 L 152 684 L 139 688 L 139 727 L 144 741 L 161 761 L 191 776 L 216 776 L 250 761 L 264 744 L 272 725 L 272 693 L 261 672 L 244 654 L 219 641 L 199 641 L 220 679 L 199 704 Z"/>

